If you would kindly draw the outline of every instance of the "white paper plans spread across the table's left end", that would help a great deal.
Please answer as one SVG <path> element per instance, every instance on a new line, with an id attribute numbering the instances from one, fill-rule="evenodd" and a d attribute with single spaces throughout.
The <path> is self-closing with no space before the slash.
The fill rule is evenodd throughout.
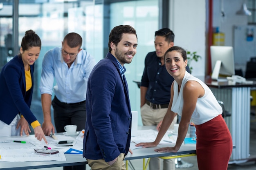
<path id="1" fill-rule="evenodd" d="M 74 150 L 83 151 L 83 133 L 82 130 L 79 135 L 76 137 L 65 136 L 65 135 L 55 135 L 58 140 L 53 139 L 52 137 L 45 136 L 48 141 L 48 144 L 45 144 L 45 141 L 38 141 L 34 135 L 24 136 L 24 137 L 11 137 L 11 138 L 2 138 L 0 139 L 0 162 L 25 162 L 25 161 L 66 161 L 64 152 L 70 148 Z M 25 144 L 13 142 L 16 141 L 26 141 Z M 56 146 L 58 141 L 64 140 L 76 140 L 74 146 Z M 40 155 L 34 153 L 34 149 L 44 149 L 44 146 L 47 146 L 51 149 L 58 150 L 58 154 L 54 155 Z M 72 153 L 72 152 L 71 152 Z"/>

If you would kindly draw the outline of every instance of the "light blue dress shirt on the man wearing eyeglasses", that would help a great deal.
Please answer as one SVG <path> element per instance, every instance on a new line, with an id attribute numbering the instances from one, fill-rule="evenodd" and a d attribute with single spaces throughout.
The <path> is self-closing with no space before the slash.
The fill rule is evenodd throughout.
<path id="1" fill-rule="evenodd" d="M 64 103 L 84 101 L 88 77 L 95 64 L 94 57 L 87 51 L 81 50 L 68 68 L 60 47 L 47 51 L 42 63 L 40 93 L 52 95 L 54 91 L 56 97 Z"/>

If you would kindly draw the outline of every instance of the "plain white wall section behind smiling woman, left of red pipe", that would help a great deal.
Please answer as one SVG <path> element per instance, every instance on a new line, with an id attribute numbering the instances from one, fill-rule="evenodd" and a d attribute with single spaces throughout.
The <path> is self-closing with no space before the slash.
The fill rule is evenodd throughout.
<path id="1" fill-rule="evenodd" d="M 205 75 L 206 58 L 206 1 L 170 0 L 170 29 L 175 34 L 174 44 L 188 51 L 197 51 L 202 58 L 192 62 L 194 76 Z"/>

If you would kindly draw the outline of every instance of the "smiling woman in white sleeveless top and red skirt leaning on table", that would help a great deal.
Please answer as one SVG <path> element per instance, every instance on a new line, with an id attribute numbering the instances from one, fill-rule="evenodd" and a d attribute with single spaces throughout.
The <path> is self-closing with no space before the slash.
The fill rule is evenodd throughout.
<path id="1" fill-rule="evenodd" d="M 177 152 L 193 121 L 196 128 L 196 153 L 199 170 L 227 170 L 233 144 L 231 134 L 222 118 L 222 108 L 209 87 L 186 72 L 186 51 L 173 46 L 165 53 L 165 66 L 175 81 L 171 86 L 171 100 L 157 138 L 137 146 L 155 147 L 168 130 L 176 114 L 181 116 L 175 146 L 159 148 L 156 152 Z"/>

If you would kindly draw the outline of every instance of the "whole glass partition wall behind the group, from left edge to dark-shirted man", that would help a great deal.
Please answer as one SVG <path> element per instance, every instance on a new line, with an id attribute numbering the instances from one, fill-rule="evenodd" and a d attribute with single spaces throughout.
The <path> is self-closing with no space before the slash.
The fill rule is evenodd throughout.
<path id="1" fill-rule="evenodd" d="M 41 64 L 49 49 L 61 46 L 64 36 L 70 32 L 83 38 L 82 48 L 98 62 L 108 52 L 108 35 L 117 25 L 129 24 L 137 30 L 138 47 L 131 64 L 125 64 L 126 78 L 132 110 L 140 113 L 140 92 L 133 80 L 140 80 L 144 59 L 154 48 L 154 32 L 158 30 L 159 0 L 20 0 L 6 1 L 0 8 L 0 68 L 7 63 L 13 41 L 20 46 L 25 31 L 34 30 L 42 40 L 40 56 L 35 62 L 34 93 L 31 110 L 40 123 L 43 113 L 40 102 Z M 19 2 L 18 38 L 13 38 L 12 3 Z M 18 48 L 19 49 L 19 48 Z M 53 115 L 53 113 L 52 113 Z M 53 118 L 52 118 L 53 119 Z M 139 114 L 140 119 L 140 114 Z M 139 120 L 139 124 L 141 121 Z M 141 124 L 142 125 L 142 124 Z"/>

